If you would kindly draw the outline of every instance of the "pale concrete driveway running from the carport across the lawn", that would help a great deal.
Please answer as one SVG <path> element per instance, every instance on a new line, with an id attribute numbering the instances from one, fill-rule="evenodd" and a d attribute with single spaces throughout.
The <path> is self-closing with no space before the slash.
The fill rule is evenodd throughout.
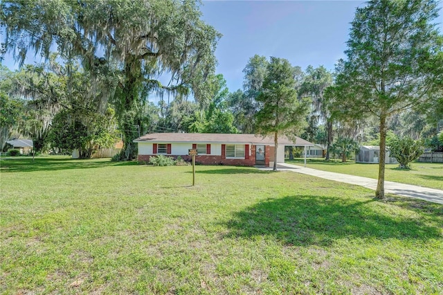
<path id="1" fill-rule="evenodd" d="M 345 175 L 336 172 L 326 172 L 287 163 L 279 163 L 278 167 L 280 170 L 289 170 L 305 175 L 345 182 L 346 184 L 355 184 L 372 190 L 377 188 L 377 179 Z M 428 202 L 443 204 L 443 190 L 436 190 L 435 188 L 424 188 L 422 186 L 412 186 L 410 184 L 399 184 L 398 182 L 385 181 L 385 193 L 413 197 L 415 199 L 424 199 Z"/>

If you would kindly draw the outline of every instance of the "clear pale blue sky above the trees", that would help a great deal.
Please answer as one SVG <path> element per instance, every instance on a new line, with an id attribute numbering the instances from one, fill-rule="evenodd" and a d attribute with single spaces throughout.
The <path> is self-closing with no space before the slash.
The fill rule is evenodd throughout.
<path id="1" fill-rule="evenodd" d="M 233 92 L 242 89 L 242 70 L 255 54 L 286 58 L 303 70 L 309 65 L 334 70 L 336 61 L 345 58 L 355 10 L 364 5 L 359 0 L 203 1 L 201 18 L 223 34 L 215 52 L 216 71 Z M 437 21 L 442 23 L 442 17 Z M 26 62 L 33 63 L 32 58 Z M 37 56 L 35 62 L 42 60 Z M 17 69 L 10 56 L 3 64 Z"/>

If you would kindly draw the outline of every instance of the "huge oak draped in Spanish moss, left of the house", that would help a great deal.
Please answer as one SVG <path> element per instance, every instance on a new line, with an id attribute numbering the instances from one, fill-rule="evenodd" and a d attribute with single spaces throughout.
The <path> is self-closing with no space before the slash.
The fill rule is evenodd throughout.
<path id="1" fill-rule="evenodd" d="M 98 109 L 105 109 L 109 99 L 114 102 L 125 142 L 122 159 L 135 155 L 132 141 L 149 93 L 192 89 L 197 100 L 206 96 L 204 80 L 215 69 L 221 35 L 201 21 L 197 1 L 13 0 L 0 5 L 6 51 L 21 64 L 28 49 L 48 57 L 53 46 L 67 59 L 82 61 L 93 79 L 91 96 L 102 98 Z M 162 75 L 170 82 L 162 83 Z"/>

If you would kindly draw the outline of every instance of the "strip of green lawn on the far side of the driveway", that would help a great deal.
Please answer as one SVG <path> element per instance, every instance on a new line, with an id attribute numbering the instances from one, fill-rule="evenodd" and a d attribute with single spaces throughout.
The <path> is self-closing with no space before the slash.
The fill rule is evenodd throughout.
<path id="1" fill-rule="evenodd" d="M 286 163 L 304 166 L 303 159 L 286 159 Z M 398 169 L 398 164 L 386 164 L 385 179 L 401 184 L 413 184 L 427 188 L 443 190 L 443 163 L 412 163 L 411 170 Z M 338 161 L 323 161 L 323 159 L 307 159 L 307 168 L 323 171 L 357 175 L 377 179 L 379 177 L 378 164 L 362 164 Z"/>

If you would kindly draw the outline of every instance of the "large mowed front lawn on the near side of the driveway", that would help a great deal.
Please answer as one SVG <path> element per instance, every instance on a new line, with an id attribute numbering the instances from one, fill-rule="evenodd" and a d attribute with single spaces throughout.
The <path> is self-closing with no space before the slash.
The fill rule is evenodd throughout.
<path id="1" fill-rule="evenodd" d="M 1 294 L 442 294 L 443 206 L 293 172 L 2 159 Z"/>

